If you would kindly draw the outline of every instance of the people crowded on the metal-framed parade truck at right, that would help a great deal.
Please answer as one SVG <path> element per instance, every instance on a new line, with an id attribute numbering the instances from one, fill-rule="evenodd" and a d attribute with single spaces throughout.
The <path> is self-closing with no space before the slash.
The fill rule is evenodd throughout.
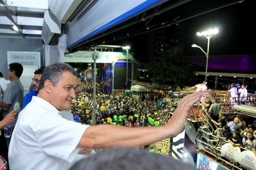
<path id="1" fill-rule="evenodd" d="M 202 84 L 197 84 L 191 88 L 197 88 L 196 91 L 207 94 L 206 83 L 204 81 Z M 250 104 L 246 87 L 246 84 L 242 84 L 239 90 L 237 90 L 235 84 L 231 84 L 228 87 L 227 92 L 231 98 L 228 102 L 230 106 L 228 107 L 227 115 L 232 113 L 232 106 L 234 105 Z M 191 88 L 188 88 L 188 90 Z M 252 119 L 248 119 L 248 121 L 244 120 L 239 114 L 225 116 L 225 108 L 221 108 L 218 100 L 212 98 L 209 94 L 207 96 L 205 95 L 205 98 L 201 98 L 198 106 L 202 109 L 200 110 L 200 117 L 205 117 L 206 119 L 203 120 L 207 122 L 201 128 L 207 128 L 205 131 L 213 132 L 212 135 L 220 139 L 218 143 L 209 142 L 209 145 L 212 145 L 210 148 L 217 144 L 217 148 L 220 149 L 224 144 L 230 143 L 232 147 L 240 147 L 241 151 L 250 150 L 256 155 L 256 124 L 252 123 Z M 231 117 L 233 117 L 233 120 L 230 120 Z M 216 149 L 212 151 L 216 154 Z M 234 165 L 234 169 L 236 169 L 235 167 L 240 167 L 238 162 L 231 162 Z"/>

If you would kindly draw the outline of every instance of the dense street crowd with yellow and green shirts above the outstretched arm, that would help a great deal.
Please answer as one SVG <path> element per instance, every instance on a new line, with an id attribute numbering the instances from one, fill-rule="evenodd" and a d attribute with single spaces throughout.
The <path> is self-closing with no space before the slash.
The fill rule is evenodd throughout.
<path id="1" fill-rule="evenodd" d="M 130 123 L 131 127 L 163 125 L 170 119 L 170 113 L 166 108 L 158 108 L 158 97 L 159 92 L 152 94 L 152 98 L 145 97 L 144 99 L 132 98 L 132 95 L 126 95 L 124 92 L 106 94 L 103 91 L 103 83 L 98 81 L 96 83 L 95 124 L 129 126 Z M 76 121 L 94 124 L 92 81 L 82 82 L 82 91 L 78 98 L 73 100 L 71 112 Z"/>

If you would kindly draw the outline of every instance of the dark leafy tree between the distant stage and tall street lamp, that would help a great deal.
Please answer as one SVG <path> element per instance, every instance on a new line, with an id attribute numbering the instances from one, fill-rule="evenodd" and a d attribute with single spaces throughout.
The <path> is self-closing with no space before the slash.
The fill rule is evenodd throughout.
<path id="1" fill-rule="evenodd" d="M 170 85 L 172 88 L 184 88 L 193 78 L 194 66 L 184 57 L 171 57 L 164 61 L 148 63 L 145 66 L 154 78 L 150 80 L 158 85 Z"/>

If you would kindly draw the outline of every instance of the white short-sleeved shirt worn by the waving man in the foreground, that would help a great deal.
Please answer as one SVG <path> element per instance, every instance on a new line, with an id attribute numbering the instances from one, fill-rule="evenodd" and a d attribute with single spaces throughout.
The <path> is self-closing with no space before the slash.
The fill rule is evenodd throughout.
<path id="1" fill-rule="evenodd" d="M 8 157 L 11 170 L 66 170 L 80 150 L 83 125 L 62 118 L 50 103 L 36 96 L 20 112 Z"/>

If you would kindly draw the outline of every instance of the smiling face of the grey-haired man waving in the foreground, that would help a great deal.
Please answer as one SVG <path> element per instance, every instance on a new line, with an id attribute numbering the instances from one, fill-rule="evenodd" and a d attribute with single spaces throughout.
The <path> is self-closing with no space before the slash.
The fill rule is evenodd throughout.
<path id="1" fill-rule="evenodd" d="M 59 111 L 70 109 L 72 100 L 76 98 L 76 76 L 66 71 L 62 73 L 62 78 L 56 84 L 51 86 L 52 90 L 48 94 L 50 104 Z"/>

